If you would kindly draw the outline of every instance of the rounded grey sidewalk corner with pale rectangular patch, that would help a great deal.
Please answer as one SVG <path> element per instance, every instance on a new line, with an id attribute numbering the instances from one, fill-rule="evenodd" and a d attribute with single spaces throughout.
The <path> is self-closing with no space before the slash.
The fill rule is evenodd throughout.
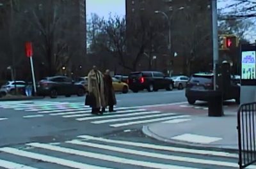
<path id="1" fill-rule="evenodd" d="M 238 149 L 236 112 L 222 117 L 191 115 L 183 122 L 158 122 L 143 126 L 143 133 L 163 142 L 214 149 Z M 187 120 L 187 121 L 185 121 Z"/>

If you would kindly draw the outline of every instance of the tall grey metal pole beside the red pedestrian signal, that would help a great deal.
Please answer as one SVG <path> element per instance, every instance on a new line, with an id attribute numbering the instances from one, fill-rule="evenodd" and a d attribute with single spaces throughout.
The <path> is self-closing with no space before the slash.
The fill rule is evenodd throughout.
<path id="1" fill-rule="evenodd" d="M 213 45 L 213 73 L 214 73 L 214 91 L 216 91 L 216 64 L 219 61 L 218 50 L 218 15 L 217 15 L 217 0 L 212 0 L 212 45 Z"/>

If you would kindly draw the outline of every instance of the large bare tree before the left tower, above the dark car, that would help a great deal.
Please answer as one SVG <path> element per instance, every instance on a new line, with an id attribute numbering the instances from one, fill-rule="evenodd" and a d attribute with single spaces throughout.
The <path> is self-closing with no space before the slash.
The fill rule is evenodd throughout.
<path id="1" fill-rule="evenodd" d="M 48 75 L 56 75 L 62 66 L 70 64 L 70 58 L 77 55 L 81 47 L 79 27 L 72 18 L 79 19 L 79 13 L 70 1 L 44 1 L 28 10 L 27 22 L 33 27 L 35 46 L 42 51 L 42 62 Z M 78 22 L 76 18 L 74 20 Z M 77 26 L 77 27 L 76 27 Z M 78 33 L 77 33 L 78 32 Z M 79 48 L 76 48 L 76 45 Z"/>

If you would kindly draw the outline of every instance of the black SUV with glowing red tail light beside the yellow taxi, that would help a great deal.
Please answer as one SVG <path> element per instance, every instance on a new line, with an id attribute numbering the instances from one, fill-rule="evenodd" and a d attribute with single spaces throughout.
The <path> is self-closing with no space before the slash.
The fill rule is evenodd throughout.
<path id="1" fill-rule="evenodd" d="M 143 91 L 148 92 L 158 91 L 158 89 L 166 89 L 172 91 L 173 80 L 170 77 L 165 77 L 159 71 L 136 71 L 129 75 L 129 88 L 133 92 Z"/>

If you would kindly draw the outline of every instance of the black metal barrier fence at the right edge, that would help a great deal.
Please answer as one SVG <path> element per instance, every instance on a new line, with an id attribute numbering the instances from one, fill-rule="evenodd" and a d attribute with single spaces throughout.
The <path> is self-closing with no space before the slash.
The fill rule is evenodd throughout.
<path id="1" fill-rule="evenodd" d="M 239 168 L 256 162 L 256 102 L 246 103 L 237 112 Z"/>

